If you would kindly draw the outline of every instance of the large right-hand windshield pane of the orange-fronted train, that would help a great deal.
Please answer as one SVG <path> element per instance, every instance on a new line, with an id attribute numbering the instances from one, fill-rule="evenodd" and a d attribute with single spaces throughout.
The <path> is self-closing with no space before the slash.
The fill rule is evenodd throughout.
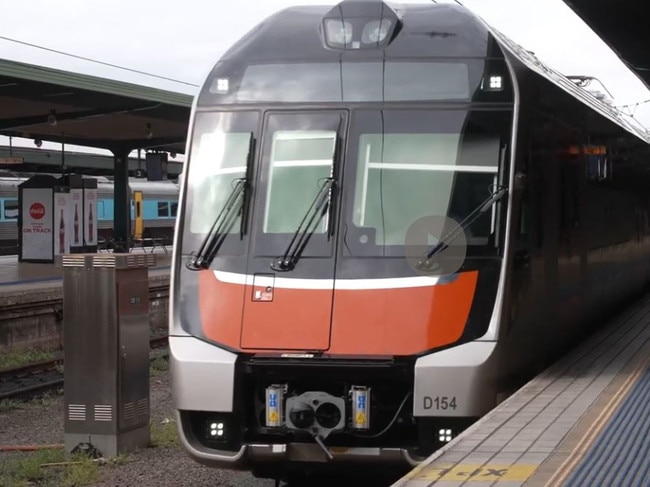
<path id="1" fill-rule="evenodd" d="M 422 219 L 460 223 L 502 184 L 510 112 L 363 110 L 353 118 L 348 168 L 349 255 L 402 256 Z M 497 207 L 465 229 L 467 245 L 494 242 Z"/>

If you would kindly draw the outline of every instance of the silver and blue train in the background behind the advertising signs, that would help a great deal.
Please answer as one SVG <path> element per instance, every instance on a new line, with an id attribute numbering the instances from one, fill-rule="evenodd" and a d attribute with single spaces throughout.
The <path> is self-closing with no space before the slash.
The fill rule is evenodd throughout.
<path id="1" fill-rule="evenodd" d="M 0 254 L 18 253 L 18 186 L 30 175 L 0 173 Z M 105 245 L 113 237 L 113 183 L 105 177 L 97 179 L 97 233 Z M 148 236 L 172 243 L 174 223 L 178 211 L 178 184 L 173 181 L 147 181 L 131 178 L 131 225 L 135 228 L 138 217 L 143 220 Z M 142 215 L 136 215 L 133 195 L 142 194 Z"/>

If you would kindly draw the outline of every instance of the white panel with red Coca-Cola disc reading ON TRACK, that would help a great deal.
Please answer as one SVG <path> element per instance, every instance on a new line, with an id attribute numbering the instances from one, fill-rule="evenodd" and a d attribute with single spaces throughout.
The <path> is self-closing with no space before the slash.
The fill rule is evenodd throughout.
<path id="1" fill-rule="evenodd" d="M 52 190 L 25 188 L 22 193 L 22 247 L 24 260 L 53 260 Z"/>

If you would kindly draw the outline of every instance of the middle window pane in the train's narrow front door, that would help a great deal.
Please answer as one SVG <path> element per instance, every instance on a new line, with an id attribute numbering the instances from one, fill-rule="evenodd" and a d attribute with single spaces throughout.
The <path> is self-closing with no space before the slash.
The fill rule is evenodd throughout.
<path id="1" fill-rule="evenodd" d="M 281 130 L 273 135 L 264 233 L 293 233 L 332 175 L 336 132 Z M 327 230 L 321 218 L 315 233 Z"/>

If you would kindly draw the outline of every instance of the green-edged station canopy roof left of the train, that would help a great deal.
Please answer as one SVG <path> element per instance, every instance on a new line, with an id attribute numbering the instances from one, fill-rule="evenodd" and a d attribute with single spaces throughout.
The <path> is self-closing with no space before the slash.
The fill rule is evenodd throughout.
<path id="1" fill-rule="evenodd" d="M 0 59 L 0 135 L 183 153 L 192 96 Z"/>

